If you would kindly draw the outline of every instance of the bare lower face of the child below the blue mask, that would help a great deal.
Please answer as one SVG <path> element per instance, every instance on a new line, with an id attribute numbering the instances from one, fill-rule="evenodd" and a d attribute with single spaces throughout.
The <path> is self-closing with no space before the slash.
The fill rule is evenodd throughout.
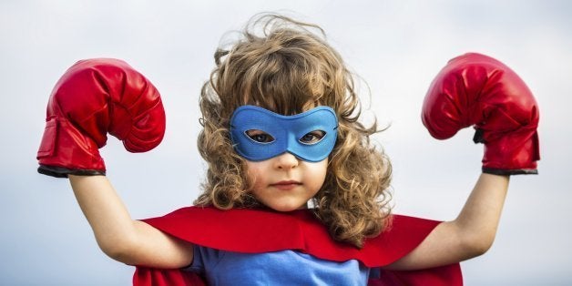
<path id="1" fill-rule="evenodd" d="M 263 161 L 246 161 L 251 193 L 265 206 L 278 211 L 291 211 L 306 207 L 322 188 L 326 178 L 328 158 L 309 162 L 291 153 Z"/>

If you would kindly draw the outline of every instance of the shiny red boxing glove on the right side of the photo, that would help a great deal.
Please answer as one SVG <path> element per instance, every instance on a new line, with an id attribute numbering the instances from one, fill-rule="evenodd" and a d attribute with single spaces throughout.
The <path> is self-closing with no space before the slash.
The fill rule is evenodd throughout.
<path id="1" fill-rule="evenodd" d="M 483 172 L 537 174 L 538 107 L 525 82 L 508 66 L 479 54 L 457 56 L 434 78 L 422 119 L 434 138 L 475 126 L 485 144 Z"/>

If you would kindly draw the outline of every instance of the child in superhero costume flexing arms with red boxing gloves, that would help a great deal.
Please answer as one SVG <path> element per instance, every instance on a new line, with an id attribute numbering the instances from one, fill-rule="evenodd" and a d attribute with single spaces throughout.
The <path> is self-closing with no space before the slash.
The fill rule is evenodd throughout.
<path id="1" fill-rule="evenodd" d="M 484 173 L 453 221 L 391 215 L 391 164 L 370 144 L 377 129 L 359 122 L 352 75 L 322 34 L 261 15 L 215 53 L 200 97 L 209 169 L 196 207 L 132 220 L 104 176 L 107 132 L 141 152 L 165 128 L 157 89 L 118 60 L 81 61 L 56 84 L 38 171 L 70 179 L 100 248 L 138 265 L 138 285 L 462 284 L 458 262 L 495 238 L 508 175 L 536 173 L 534 97 L 488 56 L 449 62 L 425 97 L 424 124 L 435 138 L 475 125 Z"/>

